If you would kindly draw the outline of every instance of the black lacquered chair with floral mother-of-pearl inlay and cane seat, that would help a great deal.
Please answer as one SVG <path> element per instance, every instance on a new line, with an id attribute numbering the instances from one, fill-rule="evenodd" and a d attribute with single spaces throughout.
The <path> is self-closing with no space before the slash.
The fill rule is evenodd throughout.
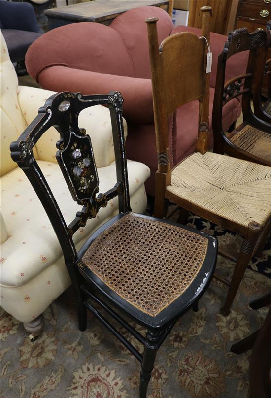
<path id="1" fill-rule="evenodd" d="M 197 304 L 211 280 L 217 241 L 189 227 L 131 211 L 122 102 L 118 92 L 53 95 L 10 148 L 12 159 L 29 178 L 62 247 L 77 301 L 79 329 L 86 329 L 89 309 L 135 355 L 141 363 L 140 398 L 145 398 L 158 348 L 175 322 Z M 78 128 L 80 111 L 97 104 L 110 109 L 116 159 L 116 184 L 105 193 L 99 193 L 90 137 Z M 83 206 L 69 225 L 32 151 L 51 126 L 60 133 L 56 153 L 59 166 L 72 198 Z M 119 214 L 96 230 L 77 253 L 74 232 L 116 196 Z M 143 355 L 98 312 L 97 305 L 142 343 Z M 146 336 L 121 314 L 146 328 Z"/>

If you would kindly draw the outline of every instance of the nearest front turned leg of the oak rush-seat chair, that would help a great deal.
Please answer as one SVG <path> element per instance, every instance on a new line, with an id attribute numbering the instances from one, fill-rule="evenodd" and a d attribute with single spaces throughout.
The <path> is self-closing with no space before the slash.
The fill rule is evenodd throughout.
<path id="1" fill-rule="evenodd" d="M 238 287 L 242 281 L 247 265 L 251 260 L 260 231 L 261 226 L 258 223 L 253 221 L 249 223 L 249 231 L 242 243 L 241 251 L 237 259 L 227 298 L 224 306 L 220 310 L 221 314 L 224 316 L 230 314 L 232 303 L 237 294 Z"/>

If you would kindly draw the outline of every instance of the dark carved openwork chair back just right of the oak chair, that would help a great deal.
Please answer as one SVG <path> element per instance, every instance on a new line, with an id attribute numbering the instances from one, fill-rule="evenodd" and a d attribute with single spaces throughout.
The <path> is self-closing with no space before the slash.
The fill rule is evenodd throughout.
<path id="1" fill-rule="evenodd" d="M 212 125 L 214 132 L 214 146 L 217 141 L 222 139 L 222 108 L 230 100 L 242 96 L 242 112 L 244 121 L 257 124 L 254 113 L 251 109 L 252 87 L 258 90 L 262 79 L 266 57 L 266 40 L 267 34 L 262 28 L 258 28 L 253 33 L 248 33 L 247 28 L 239 28 L 229 33 L 228 40 L 224 49 L 218 57 L 216 87 L 213 105 Z M 227 60 L 242 52 L 249 51 L 248 64 L 246 73 L 236 76 L 225 83 L 225 71 Z M 218 145 L 219 146 L 219 145 Z"/>

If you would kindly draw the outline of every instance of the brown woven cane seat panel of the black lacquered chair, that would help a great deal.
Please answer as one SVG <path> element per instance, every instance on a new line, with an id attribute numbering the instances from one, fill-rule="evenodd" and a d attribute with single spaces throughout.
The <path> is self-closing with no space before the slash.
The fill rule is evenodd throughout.
<path id="1" fill-rule="evenodd" d="M 93 242 L 82 262 L 115 293 L 154 317 L 193 282 L 207 243 L 204 236 L 129 213 Z"/>

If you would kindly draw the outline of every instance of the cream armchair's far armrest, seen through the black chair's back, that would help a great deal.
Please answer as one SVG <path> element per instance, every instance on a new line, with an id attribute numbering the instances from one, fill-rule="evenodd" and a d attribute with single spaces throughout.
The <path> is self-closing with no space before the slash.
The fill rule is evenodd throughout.
<path id="1" fill-rule="evenodd" d="M 44 105 L 46 99 L 54 91 L 34 87 L 19 86 L 18 102 L 23 115 L 29 125 Z M 124 120 L 125 137 L 127 136 L 127 123 Z M 84 109 L 78 118 L 79 127 L 84 127 L 91 137 L 96 166 L 105 167 L 115 160 L 112 128 L 109 109 L 102 105 L 95 105 Z M 40 160 L 56 162 L 56 142 L 59 133 L 51 127 L 38 141 L 36 147 Z"/>

